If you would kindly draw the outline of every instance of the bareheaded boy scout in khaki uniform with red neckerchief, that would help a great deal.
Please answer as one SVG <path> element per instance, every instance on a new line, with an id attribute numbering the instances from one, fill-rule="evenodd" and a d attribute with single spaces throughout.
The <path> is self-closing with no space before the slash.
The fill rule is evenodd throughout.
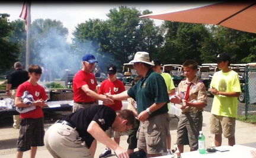
<path id="1" fill-rule="evenodd" d="M 207 105 L 207 92 L 203 82 L 196 76 L 197 62 L 186 60 L 183 64 L 184 75 L 177 88 L 177 96 L 171 99 L 181 107 L 180 120 L 177 128 L 177 145 L 183 153 L 184 145 L 190 146 L 190 151 L 198 149 L 199 131 L 203 126 L 203 108 Z"/>

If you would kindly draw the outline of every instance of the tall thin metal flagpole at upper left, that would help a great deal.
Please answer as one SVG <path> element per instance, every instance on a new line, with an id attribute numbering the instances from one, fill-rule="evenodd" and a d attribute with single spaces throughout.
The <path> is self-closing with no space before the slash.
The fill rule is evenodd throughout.
<path id="1" fill-rule="evenodd" d="M 27 42 L 26 42 L 26 55 L 25 55 L 25 63 L 26 67 L 25 69 L 28 70 L 28 66 L 30 65 L 30 25 L 31 25 L 31 14 L 30 14 L 30 8 L 31 8 L 31 1 L 28 0 L 28 6 L 27 6 Z"/>

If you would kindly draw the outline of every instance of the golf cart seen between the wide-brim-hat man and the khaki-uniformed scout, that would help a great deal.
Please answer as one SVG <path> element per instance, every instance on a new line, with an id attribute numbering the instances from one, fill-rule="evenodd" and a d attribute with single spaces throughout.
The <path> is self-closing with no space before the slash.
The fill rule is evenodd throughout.
<path id="1" fill-rule="evenodd" d="M 181 65 L 163 65 L 162 72 L 169 73 L 172 76 L 175 86 L 178 86 L 181 80 L 184 79 L 183 67 Z"/>

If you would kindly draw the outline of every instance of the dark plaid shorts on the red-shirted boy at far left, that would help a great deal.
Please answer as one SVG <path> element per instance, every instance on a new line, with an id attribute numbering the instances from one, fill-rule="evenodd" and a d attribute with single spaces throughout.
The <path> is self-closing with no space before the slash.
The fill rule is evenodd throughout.
<path id="1" fill-rule="evenodd" d="M 31 147 L 44 146 L 44 118 L 22 118 L 18 151 L 27 151 Z"/>

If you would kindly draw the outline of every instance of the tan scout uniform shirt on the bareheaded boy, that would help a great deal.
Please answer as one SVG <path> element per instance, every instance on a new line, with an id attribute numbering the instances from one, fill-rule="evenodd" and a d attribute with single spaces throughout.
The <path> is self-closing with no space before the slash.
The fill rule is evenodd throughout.
<path id="1" fill-rule="evenodd" d="M 203 82 L 197 78 L 197 76 L 191 81 L 193 85 L 190 87 L 189 99 L 188 102 L 203 102 L 207 105 L 207 92 L 205 86 L 202 86 Z M 188 79 L 181 80 L 180 84 L 178 85 L 177 95 L 180 96 L 182 100 L 185 99 L 185 95 L 187 93 L 187 86 L 190 83 Z M 183 104 L 185 104 L 183 102 Z M 203 111 L 203 108 L 196 108 L 196 107 L 185 107 L 181 109 L 182 112 L 197 112 Z"/>

